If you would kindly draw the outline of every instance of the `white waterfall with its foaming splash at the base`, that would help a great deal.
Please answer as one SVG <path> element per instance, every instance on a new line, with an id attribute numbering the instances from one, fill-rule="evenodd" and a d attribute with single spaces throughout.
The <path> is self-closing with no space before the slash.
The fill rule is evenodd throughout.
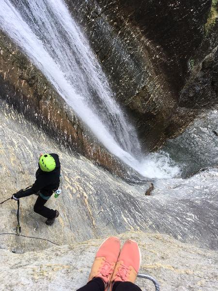
<path id="1" fill-rule="evenodd" d="M 62 0 L 1 0 L 0 28 L 112 154 L 144 177 L 178 173 L 167 155 L 143 157 L 135 129 L 114 101 L 87 40 Z"/>

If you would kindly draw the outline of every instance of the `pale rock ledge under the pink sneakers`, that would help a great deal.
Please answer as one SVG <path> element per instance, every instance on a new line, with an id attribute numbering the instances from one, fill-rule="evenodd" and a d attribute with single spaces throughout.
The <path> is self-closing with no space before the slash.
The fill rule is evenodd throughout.
<path id="1" fill-rule="evenodd" d="M 218 252 L 199 249 L 167 235 L 127 232 L 119 237 L 122 244 L 129 238 L 139 242 L 140 273 L 155 277 L 162 291 L 218 289 Z M 101 242 L 71 243 L 21 255 L 0 250 L 0 264 L 4 264 L 0 290 L 76 291 L 86 284 Z M 137 278 L 136 284 L 142 290 L 155 290 L 146 279 Z"/>

